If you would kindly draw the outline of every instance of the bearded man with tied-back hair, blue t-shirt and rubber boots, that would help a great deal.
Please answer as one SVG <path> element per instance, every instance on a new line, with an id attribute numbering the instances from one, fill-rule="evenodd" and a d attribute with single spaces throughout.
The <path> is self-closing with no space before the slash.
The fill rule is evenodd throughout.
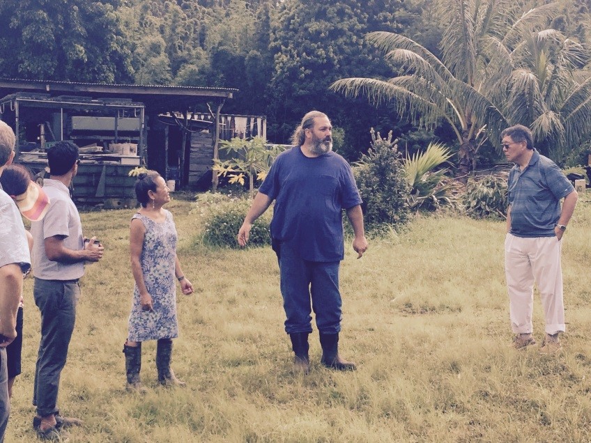
<path id="1" fill-rule="evenodd" d="M 256 194 L 238 243 L 245 246 L 254 221 L 273 200 L 271 221 L 273 249 L 279 261 L 281 293 L 291 338 L 296 371 L 307 373 L 308 335 L 312 309 L 322 346 L 321 363 L 339 371 L 353 371 L 355 364 L 339 356 L 341 294 L 339 265 L 344 258 L 341 211 L 347 212 L 360 258 L 367 250 L 363 213 L 351 166 L 332 152 L 332 126 L 328 116 L 310 111 L 293 134 L 293 148 L 277 156 Z"/>

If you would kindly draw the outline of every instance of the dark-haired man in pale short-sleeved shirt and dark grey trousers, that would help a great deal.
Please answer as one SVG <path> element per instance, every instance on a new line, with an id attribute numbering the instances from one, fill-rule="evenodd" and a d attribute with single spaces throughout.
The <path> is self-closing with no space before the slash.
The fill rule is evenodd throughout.
<path id="1" fill-rule="evenodd" d="M 84 242 L 80 216 L 70 198 L 69 186 L 78 171 L 78 147 L 71 141 L 59 141 L 47 151 L 47 162 L 50 173 L 43 189 L 52 204 L 43 220 L 31 223 L 33 297 L 41 311 L 33 428 L 40 437 L 56 437 L 62 428 L 82 423 L 59 414 L 59 378 L 74 331 L 78 280 L 84 275 L 86 261 L 102 258 L 103 247 L 95 238 Z"/>

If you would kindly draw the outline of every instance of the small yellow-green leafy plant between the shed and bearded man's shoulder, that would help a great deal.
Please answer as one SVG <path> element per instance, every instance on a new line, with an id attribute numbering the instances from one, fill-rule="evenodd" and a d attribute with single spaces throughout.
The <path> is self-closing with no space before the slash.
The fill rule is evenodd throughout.
<path id="1" fill-rule="evenodd" d="M 229 176 L 230 183 L 244 185 L 248 177 L 250 196 L 254 194 L 255 180 L 264 180 L 267 172 L 284 148 L 279 145 L 268 145 L 263 137 L 251 140 L 235 137 L 230 141 L 222 141 L 221 150 L 229 155 L 228 160 L 215 160 L 213 170 L 222 176 Z"/>

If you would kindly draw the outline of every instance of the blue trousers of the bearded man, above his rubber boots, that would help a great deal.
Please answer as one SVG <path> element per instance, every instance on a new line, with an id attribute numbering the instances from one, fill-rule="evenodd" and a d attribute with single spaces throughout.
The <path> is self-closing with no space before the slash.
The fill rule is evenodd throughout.
<path id="1" fill-rule="evenodd" d="M 286 244 L 277 245 L 285 332 L 312 332 L 312 309 L 316 327 L 323 334 L 341 330 L 340 262 L 306 261 Z M 312 304 L 310 303 L 312 300 Z"/>

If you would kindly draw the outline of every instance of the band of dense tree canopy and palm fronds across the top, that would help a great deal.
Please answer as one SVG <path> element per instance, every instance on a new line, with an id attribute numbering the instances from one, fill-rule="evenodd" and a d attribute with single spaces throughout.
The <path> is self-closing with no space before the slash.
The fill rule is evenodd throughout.
<path id="1" fill-rule="evenodd" d="M 238 88 L 224 111 L 268 116 L 276 143 L 319 109 L 344 134 L 349 160 L 367 152 L 374 127 L 411 151 L 435 132 L 470 169 L 478 147 L 492 155 L 490 141 L 512 123 L 530 125 L 555 156 L 589 143 L 590 3 L 3 1 L 0 70 Z"/>

